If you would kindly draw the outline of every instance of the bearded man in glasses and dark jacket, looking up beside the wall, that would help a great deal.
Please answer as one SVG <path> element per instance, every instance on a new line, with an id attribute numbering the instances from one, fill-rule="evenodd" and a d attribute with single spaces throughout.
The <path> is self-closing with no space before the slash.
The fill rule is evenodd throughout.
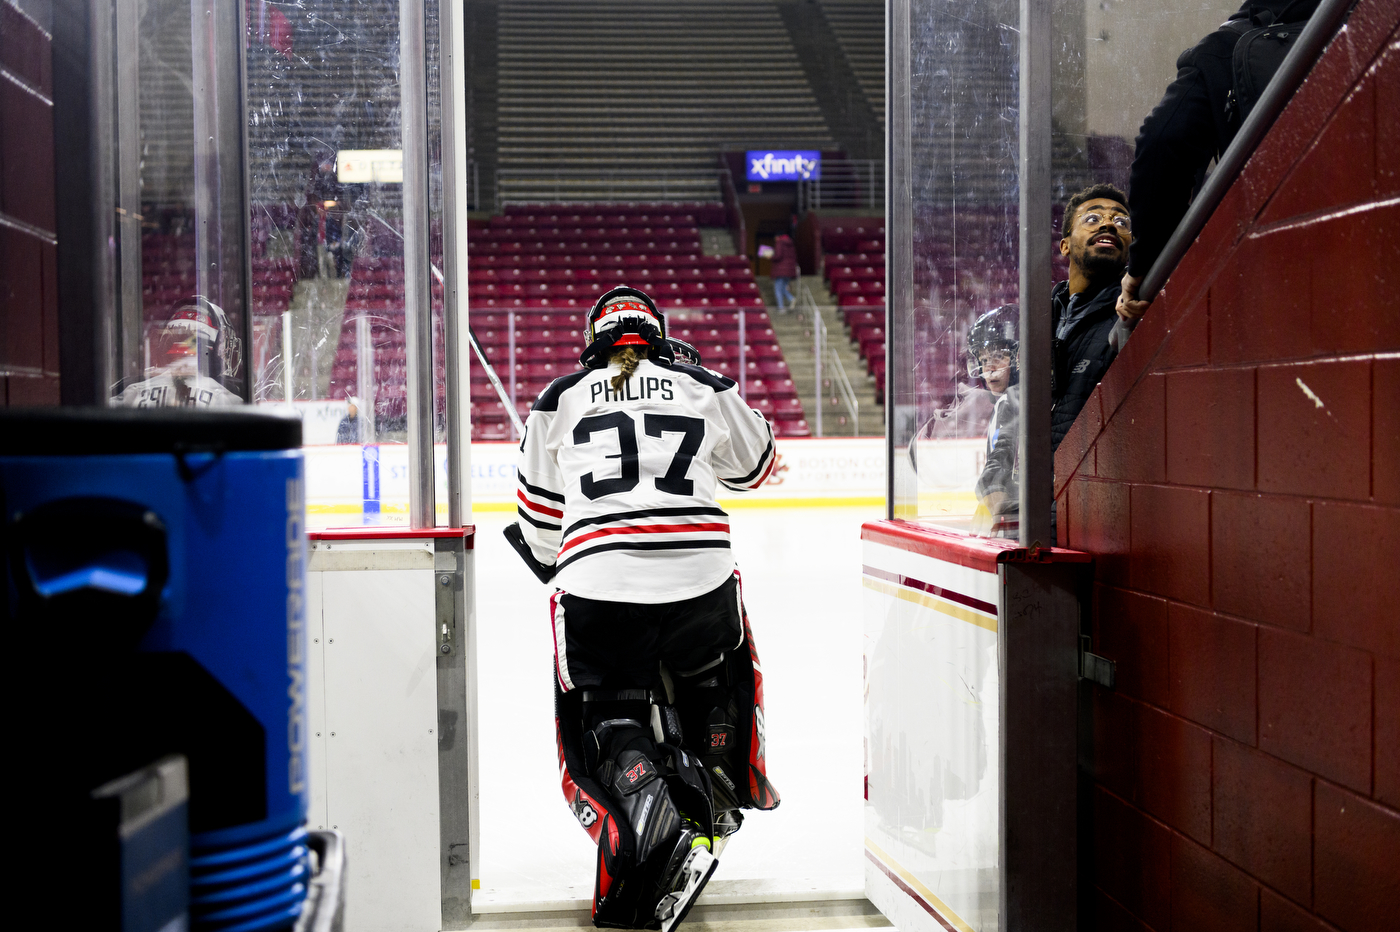
<path id="1" fill-rule="evenodd" d="M 1070 259 L 1070 278 L 1051 292 L 1051 449 L 1117 355 L 1109 332 L 1119 319 L 1114 304 L 1133 243 L 1127 203 L 1113 185 L 1089 185 L 1064 209 L 1060 255 Z"/>

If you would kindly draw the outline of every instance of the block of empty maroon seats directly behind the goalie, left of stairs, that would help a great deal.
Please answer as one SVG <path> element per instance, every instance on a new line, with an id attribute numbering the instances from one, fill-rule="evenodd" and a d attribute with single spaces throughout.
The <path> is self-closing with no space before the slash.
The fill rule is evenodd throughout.
<path id="1" fill-rule="evenodd" d="M 735 381 L 742 374 L 749 404 L 780 435 L 809 434 L 748 260 L 701 250 L 699 223 L 722 210 L 714 203 L 519 204 L 473 221 L 472 327 L 522 417 L 553 379 L 578 368 L 598 295 L 630 284 L 657 299 L 671 333 L 694 344 L 708 368 Z M 402 278 L 396 255 L 354 263 L 330 379 L 330 397 L 356 393 L 356 327 L 368 318 L 382 430 L 393 430 L 405 407 Z M 475 358 L 469 379 L 473 439 L 511 439 L 505 404 Z"/>

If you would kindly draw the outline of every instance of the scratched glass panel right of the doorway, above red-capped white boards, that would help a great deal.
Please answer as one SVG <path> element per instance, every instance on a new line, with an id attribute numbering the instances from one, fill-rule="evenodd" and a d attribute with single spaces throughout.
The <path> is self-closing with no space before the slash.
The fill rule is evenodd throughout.
<path id="1" fill-rule="evenodd" d="M 890 6 L 890 508 L 963 532 L 995 404 L 967 333 L 1016 302 L 1016 24 L 1015 0 Z"/>

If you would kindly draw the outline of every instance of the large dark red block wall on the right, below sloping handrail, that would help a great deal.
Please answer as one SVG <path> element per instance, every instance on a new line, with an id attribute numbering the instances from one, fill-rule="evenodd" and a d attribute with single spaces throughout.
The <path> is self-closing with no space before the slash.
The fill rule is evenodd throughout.
<path id="1" fill-rule="evenodd" d="M 1400 0 L 1361 0 L 1056 458 L 1099 929 L 1400 928 Z"/>

